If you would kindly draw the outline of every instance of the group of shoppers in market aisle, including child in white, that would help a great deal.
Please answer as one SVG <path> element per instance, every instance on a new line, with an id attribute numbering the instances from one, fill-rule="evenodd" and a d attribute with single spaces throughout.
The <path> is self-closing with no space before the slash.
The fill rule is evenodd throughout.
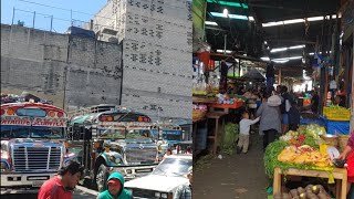
<path id="1" fill-rule="evenodd" d="M 316 90 L 311 92 L 311 104 L 305 107 L 299 102 L 301 95 L 289 92 L 285 85 L 277 87 L 259 86 L 257 90 L 244 90 L 240 86 L 239 95 L 247 98 L 247 108 L 239 122 L 240 138 L 237 151 L 247 153 L 251 125 L 259 124 L 259 134 L 263 136 L 263 149 L 288 130 L 296 130 L 300 126 L 301 111 L 319 112 L 319 95 Z"/>

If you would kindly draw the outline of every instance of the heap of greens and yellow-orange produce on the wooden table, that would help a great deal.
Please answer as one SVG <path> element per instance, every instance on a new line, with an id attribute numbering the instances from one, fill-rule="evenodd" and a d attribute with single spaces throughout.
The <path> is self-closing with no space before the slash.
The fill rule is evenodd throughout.
<path id="1" fill-rule="evenodd" d="M 319 148 L 325 129 L 319 125 L 301 126 L 298 132 L 288 132 L 268 145 L 264 154 L 266 174 L 273 178 L 274 168 L 329 170 L 333 169 L 330 156 Z"/>

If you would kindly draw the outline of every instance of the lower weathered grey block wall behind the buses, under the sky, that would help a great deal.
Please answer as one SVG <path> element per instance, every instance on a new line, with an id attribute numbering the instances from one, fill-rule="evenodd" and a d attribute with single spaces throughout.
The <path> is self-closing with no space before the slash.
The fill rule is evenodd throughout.
<path id="1" fill-rule="evenodd" d="M 119 104 L 122 45 L 1 24 L 1 92 L 31 93 L 65 109 Z"/>

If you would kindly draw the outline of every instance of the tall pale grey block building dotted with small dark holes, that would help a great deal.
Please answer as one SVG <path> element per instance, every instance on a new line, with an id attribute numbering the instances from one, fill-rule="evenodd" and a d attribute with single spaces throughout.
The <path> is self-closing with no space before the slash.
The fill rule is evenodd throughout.
<path id="1" fill-rule="evenodd" d="M 122 105 L 191 119 L 190 0 L 108 0 L 92 21 L 100 40 L 123 42 Z"/>

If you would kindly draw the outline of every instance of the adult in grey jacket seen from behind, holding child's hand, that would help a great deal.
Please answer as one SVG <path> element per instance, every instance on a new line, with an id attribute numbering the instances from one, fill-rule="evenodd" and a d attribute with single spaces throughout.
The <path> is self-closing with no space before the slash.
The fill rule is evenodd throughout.
<path id="1" fill-rule="evenodd" d="M 275 100 L 275 101 L 273 101 Z M 259 130 L 263 135 L 263 150 L 267 146 L 275 140 L 275 137 L 281 133 L 281 114 L 280 114 L 281 98 L 273 95 L 270 98 L 270 93 L 264 92 L 263 103 L 258 108 L 256 115 L 261 117 Z"/>

